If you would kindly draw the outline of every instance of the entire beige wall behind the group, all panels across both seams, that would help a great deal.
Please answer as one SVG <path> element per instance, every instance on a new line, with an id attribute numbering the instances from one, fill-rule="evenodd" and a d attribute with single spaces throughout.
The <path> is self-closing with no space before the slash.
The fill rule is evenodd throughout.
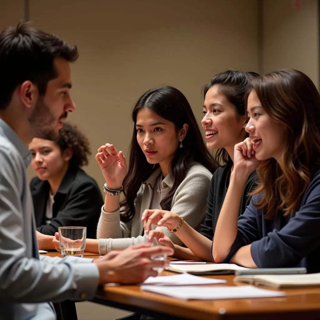
<path id="1" fill-rule="evenodd" d="M 202 86 L 227 68 L 258 70 L 257 3 L 260 0 L 29 0 L 30 20 L 78 46 L 69 120 L 92 146 L 85 170 L 102 186 L 94 155 L 111 142 L 127 152 L 130 111 L 146 90 L 169 84 L 188 98 L 200 123 Z M 261 0 L 262 1 L 262 0 Z M 318 84 L 316 0 L 263 0 L 264 71 L 298 68 Z M 24 17 L 23 0 L 0 1 L 0 28 Z M 28 169 L 28 176 L 33 176 Z M 79 320 L 125 313 L 77 303 Z"/>

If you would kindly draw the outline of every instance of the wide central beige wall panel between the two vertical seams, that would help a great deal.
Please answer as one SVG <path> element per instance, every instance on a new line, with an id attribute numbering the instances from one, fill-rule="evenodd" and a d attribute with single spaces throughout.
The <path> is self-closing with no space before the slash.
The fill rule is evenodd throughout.
<path id="1" fill-rule="evenodd" d="M 30 20 L 79 48 L 69 120 L 91 141 L 86 171 L 101 186 L 94 154 L 106 142 L 127 154 L 130 111 L 143 92 L 177 87 L 200 123 L 200 91 L 211 76 L 257 71 L 256 0 L 30 0 Z"/>

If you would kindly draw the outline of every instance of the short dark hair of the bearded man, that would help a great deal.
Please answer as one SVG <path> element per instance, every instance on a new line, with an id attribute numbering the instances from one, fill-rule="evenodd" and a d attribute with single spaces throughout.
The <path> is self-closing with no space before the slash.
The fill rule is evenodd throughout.
<path id="1" fill-rule="evenodd" d="M 27 80 L 36 84 L 43 96 L 48 81 L 59 76 L 53 65 L 57 57 L 68 62 L 77 60 L 76 46 L 28 22 L 4 29 L 0 33 L 0 110 L 6 109 L 14 90 Z"/>

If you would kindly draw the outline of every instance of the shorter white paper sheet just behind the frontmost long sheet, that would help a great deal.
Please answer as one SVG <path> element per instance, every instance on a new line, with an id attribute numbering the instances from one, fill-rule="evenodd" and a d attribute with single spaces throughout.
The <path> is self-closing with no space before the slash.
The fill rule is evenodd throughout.
<path id="1" fill-rule="evenodd" d="M 226 283 L 223 279 L 210 279 L 200 276 L 193 276 L 188 273 L 182 273 L 174 276 L 148 277 L 141 285 L 191 285 L 191 284 L 222 284 Z"/>

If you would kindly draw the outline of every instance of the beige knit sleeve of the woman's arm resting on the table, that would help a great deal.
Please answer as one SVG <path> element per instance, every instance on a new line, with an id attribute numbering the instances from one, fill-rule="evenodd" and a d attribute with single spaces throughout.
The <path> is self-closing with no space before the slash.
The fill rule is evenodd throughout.
<path id="1" fill-rule="evenodd" d="M 211 176 L 204 172 L 193 172 L 181 182 L 177 189 L 171 211 L 182 216 L 192 228 L 196 228 L 204 220 L 210 180 Z M 181 240 L 167 228 L 156 227 L 155 229 L 163 230 L 174 244 L 182 244 Z M 142 243 L 148 243 L 148 235 L 122 239 L 99 239 L 99 253 L 106 254 L 110 250 L 122 250 L 130 245 Z"/>

